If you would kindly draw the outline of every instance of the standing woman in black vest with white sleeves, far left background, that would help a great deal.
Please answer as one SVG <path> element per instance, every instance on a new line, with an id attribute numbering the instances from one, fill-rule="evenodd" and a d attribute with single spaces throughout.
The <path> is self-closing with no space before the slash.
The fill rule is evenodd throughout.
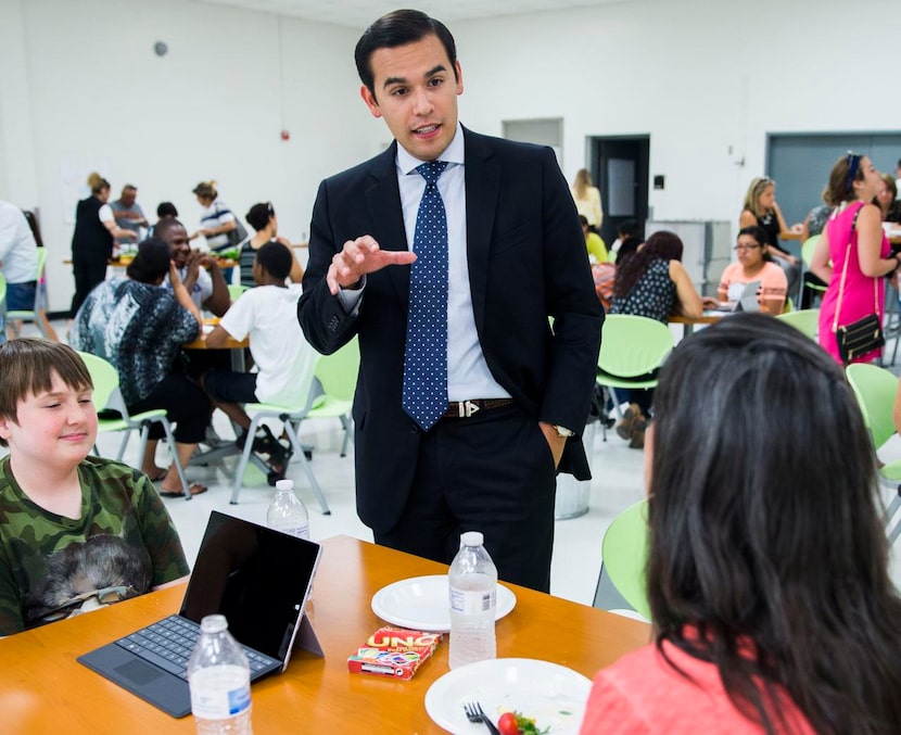
<path id="1" fill-rule="evenodd" d="M 91 195 L 78 202 L 75 231 L 72 235 L 72 270 L 75 294 L 71 316 L 74 317 L 91 289 L 106 278 L 106 263 L 113 256 L 115 238 L 136 241 L 131 230 L 116 225 L 110 199 L 110 182 L 97 172 L 88 176 Z"/>

